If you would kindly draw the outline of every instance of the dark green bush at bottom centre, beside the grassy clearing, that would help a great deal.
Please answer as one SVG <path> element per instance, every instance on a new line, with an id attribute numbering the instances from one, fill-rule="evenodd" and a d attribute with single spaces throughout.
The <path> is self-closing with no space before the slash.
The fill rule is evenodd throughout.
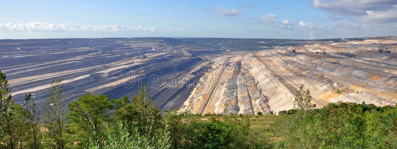
<path id="1" fill-rule="evenodd" d="M 248 116 L 222 116 L 208 121 L 193 121 L 185 135 L 185 148 L 223 149 L 247 148 Z"/>

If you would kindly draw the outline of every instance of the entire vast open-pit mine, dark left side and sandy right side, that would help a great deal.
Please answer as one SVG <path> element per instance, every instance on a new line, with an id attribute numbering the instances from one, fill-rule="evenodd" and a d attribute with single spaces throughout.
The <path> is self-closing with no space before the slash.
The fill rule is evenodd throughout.
<path id="1" fill-rule="evenodd" d="M 296 107 L 302 84 L 316 107 L 397 102 L 397 37 L 0 40 L 0 54 L 13 98 L 31 93 L 39 107 L 61 78 L 68 101 L 133 96 L 146 82 L 163 110 L 200 114 L 277 114 Z"/>

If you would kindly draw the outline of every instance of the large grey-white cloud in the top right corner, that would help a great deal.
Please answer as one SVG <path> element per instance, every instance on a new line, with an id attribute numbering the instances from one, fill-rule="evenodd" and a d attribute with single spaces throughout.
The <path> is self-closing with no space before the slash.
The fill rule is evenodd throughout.
<path id="1" fill-rule="evenodd" d="M 331 20 L 344 15 L 369 24 L 397 22 L 397 0 L 313 0 L 312 7 L 332 13 Z"/>

